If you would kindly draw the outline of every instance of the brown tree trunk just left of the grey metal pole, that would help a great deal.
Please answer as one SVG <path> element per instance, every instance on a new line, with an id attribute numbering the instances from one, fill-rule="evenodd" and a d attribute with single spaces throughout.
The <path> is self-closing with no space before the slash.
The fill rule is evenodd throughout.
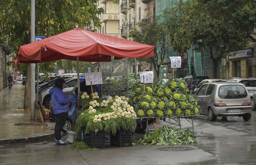
<path id="1" fill-rule="evenodd" d="M 30 65 L 28 64 L 27 65 L 28 69 L 27 69 L 27 72 L 26 72 L 26 86 L 25 86 L 25 91 L 24 91 L 24 106 L 23 108 L 28 110 L 30 109 L 30 87 L 31 87 L 31 84 L 30 84 L 30 79 L 31 79 L 31 68 L 30 68 Z"/>

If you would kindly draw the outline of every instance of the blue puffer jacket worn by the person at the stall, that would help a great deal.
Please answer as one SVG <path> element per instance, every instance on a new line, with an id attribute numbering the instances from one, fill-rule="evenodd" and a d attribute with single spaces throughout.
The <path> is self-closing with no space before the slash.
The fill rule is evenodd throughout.
<path id="1" fill-rule="evenodd" d="M 65 95 L 65 93 L 58 87 L 53 87 L 49 90 L 49 94 L 51 94 L 52 97 L 52 103 L 53 103 L 53 113 L 64 113 L 67 112 L 68 102 L 70 101 L 70 98 Z"/>

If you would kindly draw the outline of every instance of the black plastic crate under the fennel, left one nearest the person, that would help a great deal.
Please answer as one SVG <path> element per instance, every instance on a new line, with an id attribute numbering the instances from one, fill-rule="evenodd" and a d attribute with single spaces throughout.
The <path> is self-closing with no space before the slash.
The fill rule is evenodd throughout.
<path id="1" fill-rule="evenodd" d="M 105 131 L 89 132 L 84 135 L 84 142 L 90 148 L 105 148 Z"/>

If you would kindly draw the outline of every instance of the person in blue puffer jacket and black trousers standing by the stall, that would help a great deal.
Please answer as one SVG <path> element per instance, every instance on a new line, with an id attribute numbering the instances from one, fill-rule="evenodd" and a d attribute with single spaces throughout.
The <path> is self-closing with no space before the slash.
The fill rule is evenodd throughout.
<path id="1" fill-rule="evenodd" d="M 67 143 L 61 140 L 61 128 L 64 127 L 69 105 L 70 98 L 65 95 L 62 91 L 65 88 L 66 84 L 65 81 L 61 78 L 58 78 L 55 81 L 54 87 L 49 90 L 49 93 L 52 97 L 52 104 L 53 104 L 53 113 L 55 115 L 55 142 L 57 145 L 67 145 Z"/>

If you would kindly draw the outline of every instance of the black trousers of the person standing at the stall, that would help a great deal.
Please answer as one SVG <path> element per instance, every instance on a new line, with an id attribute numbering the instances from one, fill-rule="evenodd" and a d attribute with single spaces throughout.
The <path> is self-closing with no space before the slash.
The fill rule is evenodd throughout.
<path id="1" fill-rule="evenodd" d="M 64 127 L 67 119 L 67 112 L 65 113 L 58 113 L 55 114 L 55 128 L 54 128 L 54 133 L 55 133 L 55 139 L 60 140 L 61 139 L 61 128 Z"/>

